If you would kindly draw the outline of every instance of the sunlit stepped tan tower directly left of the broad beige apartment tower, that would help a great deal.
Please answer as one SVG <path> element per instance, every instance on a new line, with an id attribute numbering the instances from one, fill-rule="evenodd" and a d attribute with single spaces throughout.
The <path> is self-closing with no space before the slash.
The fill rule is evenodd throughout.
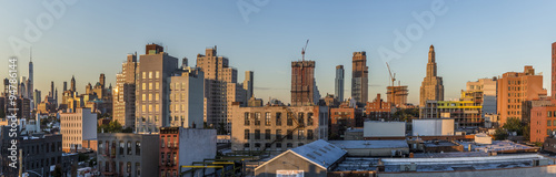
<path id="1" fill-rule="evenodd" d="M 116 87 L 112 93 L 113 119 L 123 128 L 136 128 L 136 73 L 137 54 L 128 54 L 121 64 L 121 72 L 116 74 Z"/>

